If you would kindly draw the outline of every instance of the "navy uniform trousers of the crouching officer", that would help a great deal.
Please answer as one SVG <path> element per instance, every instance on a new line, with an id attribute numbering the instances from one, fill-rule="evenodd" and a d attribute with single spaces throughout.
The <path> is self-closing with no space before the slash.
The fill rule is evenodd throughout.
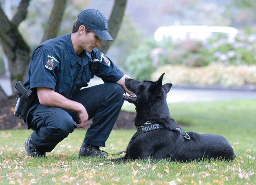
<path id="1" fill-rule="evenodd" d="M 87 130 L 84 143 L 105 147 L 124 103 L 124 89 L 116 83 L 105 83 L 79 90 L 72 100 L 82 103 L 93 123 Z M 38 104 L 27 118 L 32 143 L 41 152 L 50 152 L 77 127 L 77 114 L 57 107 Z"/>

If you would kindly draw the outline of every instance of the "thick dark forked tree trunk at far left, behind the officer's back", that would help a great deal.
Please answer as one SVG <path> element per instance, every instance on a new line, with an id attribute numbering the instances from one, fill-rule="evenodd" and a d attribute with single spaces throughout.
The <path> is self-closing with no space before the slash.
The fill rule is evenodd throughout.
<path id="1" fill-rule="evenodd" d="M 30 49 L 18 31 L 18 25 L 25 19 L 30 0 L 20 1 L 18 11 L 10 21 L 0 7 L 0 43 L 8 60 L 11 84 L 23 81 L 30 61 Z"/>

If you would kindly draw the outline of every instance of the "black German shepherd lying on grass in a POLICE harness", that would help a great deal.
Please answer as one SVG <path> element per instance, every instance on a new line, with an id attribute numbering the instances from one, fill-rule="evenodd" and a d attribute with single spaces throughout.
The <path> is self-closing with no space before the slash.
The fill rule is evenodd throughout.
<path id="1" fill-rule="evenodd" d="M 156 81 L 125 79 L 127 89 L 135 94 L 123 98 L 136 106 L 137 132 L 131 138 L 124 157 L 115 161 L 168 158 L 189 162 L 203 159 L 233 160 L 230 143 L 220 135 L 183 132 L 170 117 L 166 94 L 171 83 L 162 85 L 163 73 Z M 111 160 L 113 161 L 113 160 Z"/>

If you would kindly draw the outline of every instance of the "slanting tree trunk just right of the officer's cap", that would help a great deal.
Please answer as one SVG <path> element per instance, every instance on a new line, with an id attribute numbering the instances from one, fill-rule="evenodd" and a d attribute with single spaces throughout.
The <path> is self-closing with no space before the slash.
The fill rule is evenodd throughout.
<path id="1" fill-rule="evenodd" d="M 108 32 L 113 40 L 117 37 L 118 30 L 121 26 L 126 4 L 127 0 L 115 0 L 111 16 L 108 20 Z M 113 41 L 103 41 L 99 50 L 101 50 L 102 53 L 107 53 L 112 43 Z"/>

